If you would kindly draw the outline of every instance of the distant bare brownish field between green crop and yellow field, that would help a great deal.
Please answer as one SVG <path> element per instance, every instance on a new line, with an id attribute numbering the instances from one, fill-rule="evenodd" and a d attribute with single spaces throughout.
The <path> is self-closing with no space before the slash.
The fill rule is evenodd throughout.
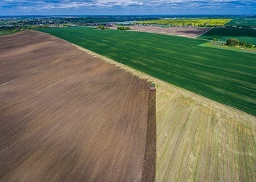
<path id="1" fill-rule="evenodd" d="M 143 31 L 150 33 L 161 33 L 173 36 L 186 36 L 195 38 L 210 30 L 210 28 L 195 28 L 195 27 L 168 27 L 163 28 L 159 26 L 130 26 L 132 31 Z"/>

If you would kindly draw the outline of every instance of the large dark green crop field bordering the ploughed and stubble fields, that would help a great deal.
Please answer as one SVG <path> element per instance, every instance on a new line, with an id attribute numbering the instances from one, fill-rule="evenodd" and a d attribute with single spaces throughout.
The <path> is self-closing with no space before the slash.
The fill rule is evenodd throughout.
<path id="1" fill-rule="evenodd" d="M 94 28 L 41 30 L 256 116 L 255 54 L 200 47 L 201 39 Z"/>

